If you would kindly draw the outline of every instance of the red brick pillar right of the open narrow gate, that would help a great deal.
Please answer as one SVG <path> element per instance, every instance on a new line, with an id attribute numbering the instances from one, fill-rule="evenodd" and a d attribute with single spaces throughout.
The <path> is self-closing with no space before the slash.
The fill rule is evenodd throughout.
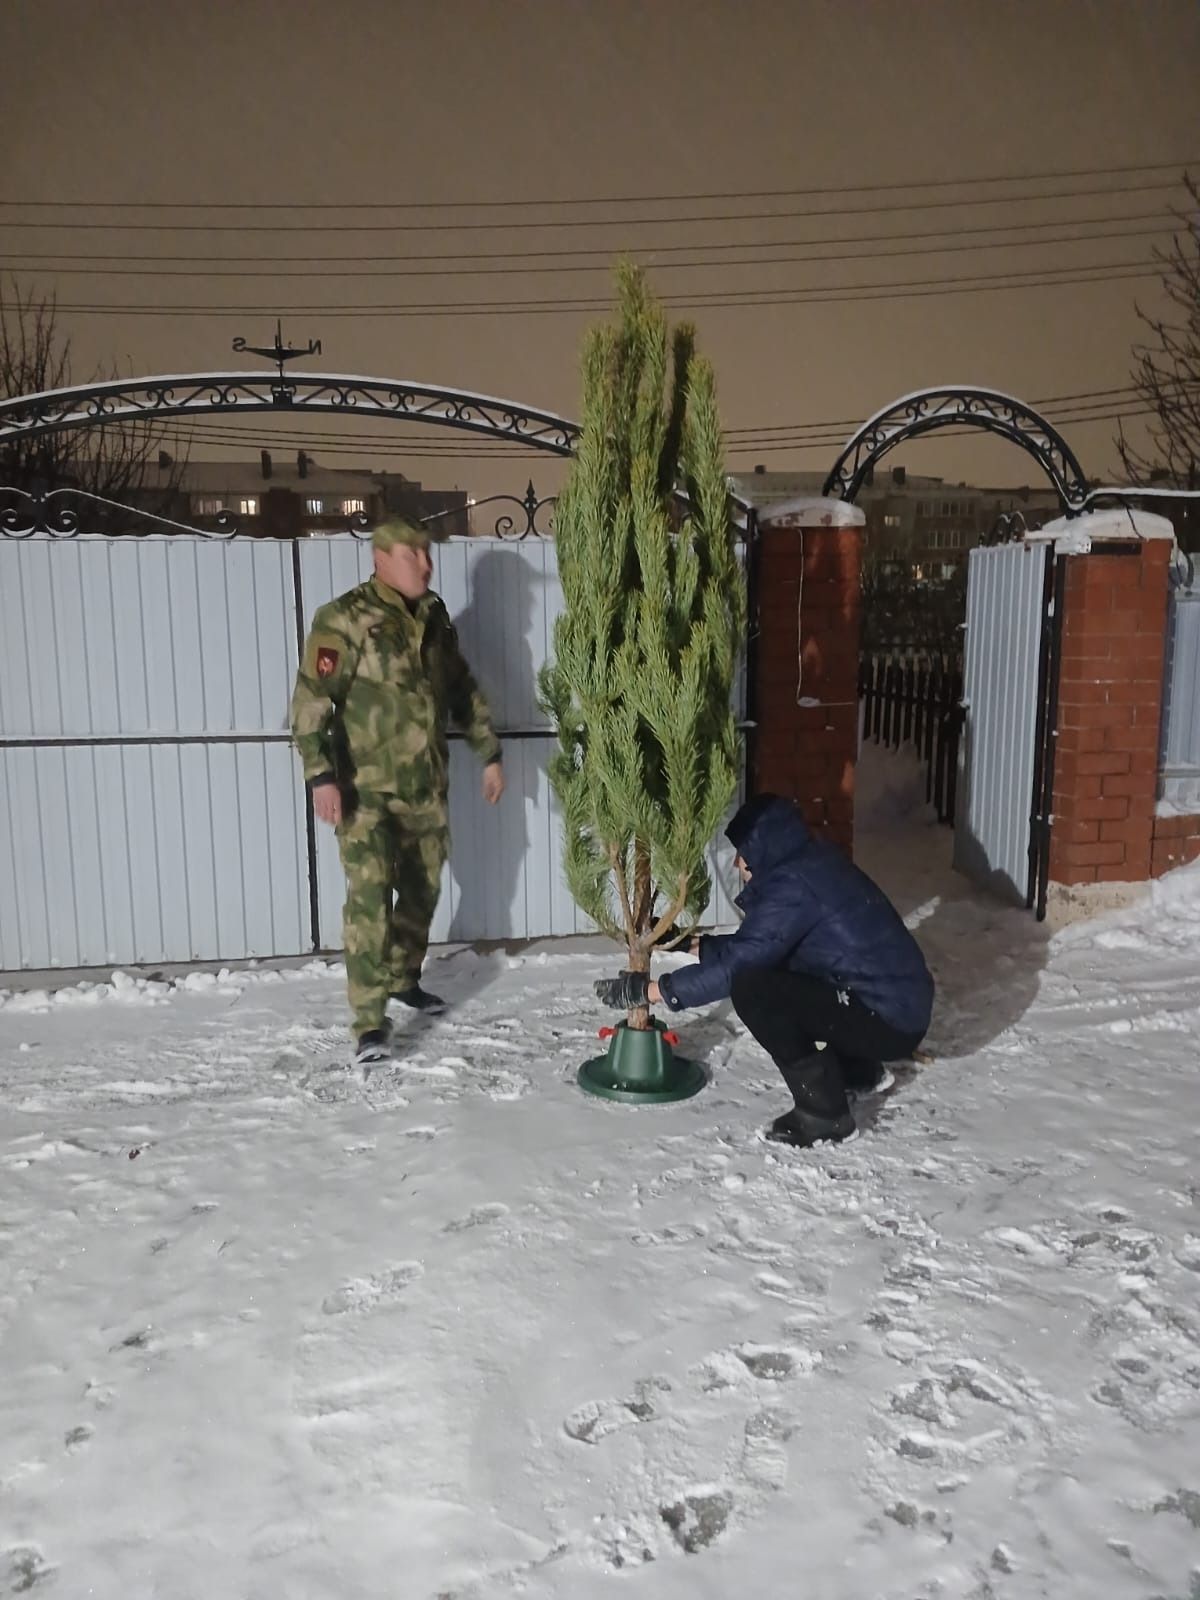
<path id="1" fill-rule="evenodd" d="M 1150 877 L 1171 541 L 1126 552 L 1067 557 L 1051 883 Z"/>

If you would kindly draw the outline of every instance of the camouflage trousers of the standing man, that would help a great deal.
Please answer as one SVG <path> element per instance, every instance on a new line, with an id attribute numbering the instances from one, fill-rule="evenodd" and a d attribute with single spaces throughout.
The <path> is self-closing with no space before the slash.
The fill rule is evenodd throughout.
<path id="1" fill-rule="evenodd" d="M 354 1030 L 365 1034 L 382 1027 L 387 997 L 421 976 L 450 846 L 445 808 L 414 814 L 394 795 L 360 795 L 338 846 L 346 981 Z"/>

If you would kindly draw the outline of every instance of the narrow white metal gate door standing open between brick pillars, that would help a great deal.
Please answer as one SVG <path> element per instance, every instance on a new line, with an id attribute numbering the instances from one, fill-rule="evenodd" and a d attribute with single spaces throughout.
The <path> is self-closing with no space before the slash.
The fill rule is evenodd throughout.
<path id="1" fill-rule="evenodd" d="M 1027 907 L 1048 827 L 1051 578 L 1048 542 L 970 552 L 954 864 Z"/>

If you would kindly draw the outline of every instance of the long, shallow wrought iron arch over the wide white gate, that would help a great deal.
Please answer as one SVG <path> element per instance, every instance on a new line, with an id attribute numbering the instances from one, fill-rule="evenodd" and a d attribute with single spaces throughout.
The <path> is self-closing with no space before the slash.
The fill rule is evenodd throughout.
<path id="1" fill-rule="evenodd" d="M 0 446 L 64 429 L 230 411 L 331 411 L 454 427 L 570 456 L 579 424 L 466 389 L 333 373 L 184 373 L 50 389 L 0 402 Z"/>

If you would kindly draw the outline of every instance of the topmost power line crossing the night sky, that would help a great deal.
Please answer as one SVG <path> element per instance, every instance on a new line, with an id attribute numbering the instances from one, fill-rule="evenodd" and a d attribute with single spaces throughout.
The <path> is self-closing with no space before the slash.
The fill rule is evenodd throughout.
<path id="1" fill-rule="evenodd" d="M 542 197 L 536 200 L 0 200 L 0 206 L 123 211 L 496 211 L 530 206 L 664 205 L 690 200 L 781 200 L 830 194 L 893 194 L 899 189 L 962 189 L 966 184 L 1053 182 L 1061 178 L 1114 178 L 1128 173 L 1181 171 L 1195 162 L 1142 162 L 1130 166 L 1056 168 L 1046 173 L 989 173 L 973 178 L 926 178 L 888 184 L 829 184 L 819 189 L 707 190 L 674 195 Z"/>

